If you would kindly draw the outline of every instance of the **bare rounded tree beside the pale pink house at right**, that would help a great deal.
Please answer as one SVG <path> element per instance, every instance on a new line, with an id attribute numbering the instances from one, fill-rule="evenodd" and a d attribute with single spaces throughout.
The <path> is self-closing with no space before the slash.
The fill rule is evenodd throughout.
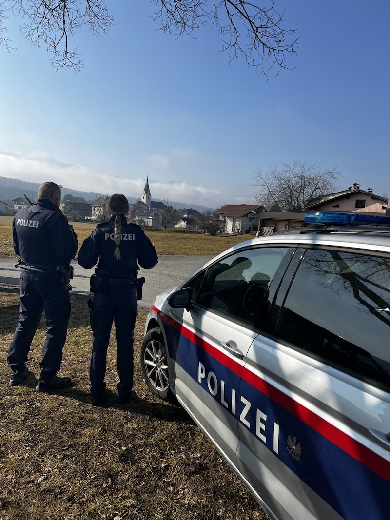
<path id="1" fill-rule="evenodd" d="M 324 172 L 315 164 L 306 161 L 281 163 L 272 166 L 263 174 L 261 170 L 254 177 L 253 186 L 258 187 L 254 201 L 263 204 L 270 211 L 302 213 L 315 199 L 336 190 L 336 180 L 340 172 L 336 167 Z"/>

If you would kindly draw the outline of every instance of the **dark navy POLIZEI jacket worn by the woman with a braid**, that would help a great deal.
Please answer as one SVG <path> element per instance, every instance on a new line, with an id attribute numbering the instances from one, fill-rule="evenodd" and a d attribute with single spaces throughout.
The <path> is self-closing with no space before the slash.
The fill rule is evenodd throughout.
<path id="1" fill-rule="evenodd" d="M 90 269 L 97 264 L 97 270 L 108 272 L 111 278 L 136 279 L 139 270 L 138 264 L 144 269 L 151 269 L 158 262 L 154 246 L 137 224 L 127 224 L 126 217 L 122 219 L 122 237 L 119 244 L 121 258 L 114 256 L 114 219 L 99 224 L 86 238 L 79 251 L 79 264 Z"/>

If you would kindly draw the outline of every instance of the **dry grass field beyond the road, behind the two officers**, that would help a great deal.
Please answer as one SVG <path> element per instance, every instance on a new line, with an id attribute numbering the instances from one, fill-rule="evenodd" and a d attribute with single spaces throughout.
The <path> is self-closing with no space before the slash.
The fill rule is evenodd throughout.
<path id="1" fill-rule="evenodd" d="M 83 240 L 89 237 L 96 224 L 83 222 L 73 223 L 74 230 L 79 240 L 79 246 Z M 249 235 L 239 237 L 212 237 L 200 233 L 174 233 L 164 231 L 147 231 L 147 236 L 154 241 L 157 254 L 163 255 L 217 255 L 244 240 Z M 0 258 L 16 258 L 12 248 L 12 217 L 0 217 Z"/>

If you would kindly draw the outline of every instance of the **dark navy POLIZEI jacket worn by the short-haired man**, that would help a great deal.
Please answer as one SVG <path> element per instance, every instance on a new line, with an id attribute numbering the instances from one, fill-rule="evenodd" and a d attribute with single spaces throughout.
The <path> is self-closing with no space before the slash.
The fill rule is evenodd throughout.
<path id="1" fill-rule="evenodd" d="M 22 261 L 43 270 L 68 267 L 77 252 L 77 235 L 67 217 L 47 199 L 38 199 L 15 215 L 12 235 L 15 253 Z"/>

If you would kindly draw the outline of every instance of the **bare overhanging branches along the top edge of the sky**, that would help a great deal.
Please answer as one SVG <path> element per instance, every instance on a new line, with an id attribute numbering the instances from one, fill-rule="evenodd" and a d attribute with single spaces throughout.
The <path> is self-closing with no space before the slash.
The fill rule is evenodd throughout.
<path id="1" fill-rule="evenodd" d="M 296 54 L 298 38 L 294 29 L 284 28 L 284 10 L 277 0 L 266 6 L 245 0 L 154 0 L 152 15 L 167 34 L 191 36 L 210 23 L 222 40 L 228 60 L 243 57 L 248 65 L 260 67 L 265 75 L 275 67 L 276 75 L 290 69 L 287 57 Z M 107 32 L 113 23 L 105 0 L 0 0 L 0 48 L 10 49 L 4 20 L 20 16 L 24 36 L 36 47 L 54 54 L 55 68 L 83 68 L 77 46 L 71 45 L 76 31 L 85 25 L 93 34 Z"/>

